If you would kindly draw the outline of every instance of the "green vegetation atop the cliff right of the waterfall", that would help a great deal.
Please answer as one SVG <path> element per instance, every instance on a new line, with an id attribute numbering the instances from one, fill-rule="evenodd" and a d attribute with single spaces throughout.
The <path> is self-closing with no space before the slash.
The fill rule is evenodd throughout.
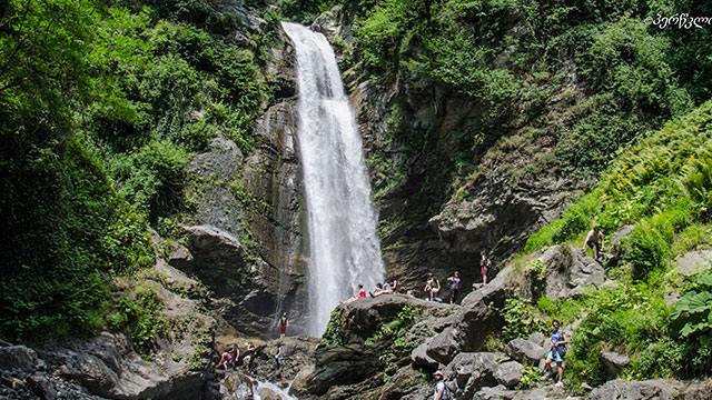
<path id="1" fill-rule="evenodd" d="M 318 10 L 325 3 L 318 2 Z M 684 49 L 692 59 L 709 62 L 699 53 L 709 32 L 661 31 L 643 22 L 672 9 L 659 0 L 574 7 L 527 0 L 330 2 L 337 3 L 355 12 L 352 57 L 372 79 L 436 82 L 481 109 L 479 131 L 465 132 L 468 160 L 483 134 L 492 143 L 505 133 L 503 124 L 508 130 L 507 124 L 524 123 L 556 142 L 555 157 L 541 162 L 591 176 L 619 149 L 706 99 L 699 88 L 712 83 L 709 74 L 691 73 L 690 60 L 676 57 Z M 675 3 L 705 11 L 696 2 Z M 561 108 L 547 97 L 562 97 L 572 82 L 585 93 L 568 104 L 575 117 L 554 121 L 561 124 L 555 132 L 534 123 Z"/>

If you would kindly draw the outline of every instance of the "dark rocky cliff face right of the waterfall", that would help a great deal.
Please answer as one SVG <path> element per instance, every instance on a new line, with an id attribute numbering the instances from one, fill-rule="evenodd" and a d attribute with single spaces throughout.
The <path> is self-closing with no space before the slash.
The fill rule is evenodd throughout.
<path id="1" fill-rule="evenodd" d="M 353 18 L 353 10 L 336 8 L 314 29 L 348 48 Z M 357 60 L 339 58 L 373 176 L 387 270 L 411 287 L 427 271 L 444 278 L 459 270 L 466 286 L 478 281 L 481 250 L 504 261 L 592 183 L 546 161 L 555 124 L 575 118 L 584 99 L 573 74 L 563 90 L 540 82 L 544 103 L 508 104 L 500 126 L 484 127 L 486 107 L 473 98 L 417 76 L 374 82 Z"/>

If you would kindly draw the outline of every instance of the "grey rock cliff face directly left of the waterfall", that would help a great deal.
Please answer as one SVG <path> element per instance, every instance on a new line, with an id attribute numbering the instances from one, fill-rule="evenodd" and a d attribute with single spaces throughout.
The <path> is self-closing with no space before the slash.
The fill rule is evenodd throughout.
<path id="1" fill-rule="evenodd" d="M 283 311 L 300 332 L 306 307 L 294 49 L 284 34 L 268 59 L 277 93 L 255 127 L 255 149 L 245 157 L 219 137 L 194 158 L 186 190 L 196 212 L 182 227 L 186 246 L 170 258 L 208 286 L 216 310 L 234 327 L 258 337 L 275 334 Z"/>

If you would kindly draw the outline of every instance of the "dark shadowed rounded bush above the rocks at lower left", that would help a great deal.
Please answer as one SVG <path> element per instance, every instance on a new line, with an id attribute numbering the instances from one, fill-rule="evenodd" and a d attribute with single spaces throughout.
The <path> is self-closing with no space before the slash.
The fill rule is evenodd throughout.
<path id="1" fill-rule="evenodd" d="M 41 341 L 103 324 L 106 276 L 154 261 L 148 226 L 130 211 L 96 153 L 75 139 L 2 179 L 0 336 Z M 20 168 L 18 168 L 20 167 Z M 22 204 L 22 207 L 18 207 Z"/>

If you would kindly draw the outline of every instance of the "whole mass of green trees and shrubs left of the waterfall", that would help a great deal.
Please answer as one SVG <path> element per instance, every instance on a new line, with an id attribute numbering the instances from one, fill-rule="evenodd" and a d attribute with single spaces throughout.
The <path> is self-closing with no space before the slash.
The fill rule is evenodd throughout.
<path id="1" fill-rule="evenodd" d="M 270 34 L 239 44 L 239 21 L 216 2 L 106 4 L 0 7 L 7 340 L 107 323 L 140 346 L 152 338 L 130 321 L 141 316 L 106 320 L 109 282 L 151 266 L 149 227 L 175 226 L 191 207 L 182 190 L 190 157 L 217 134 L 249 151 L 251 123 L 271 96 L 258 68 Z"/>

